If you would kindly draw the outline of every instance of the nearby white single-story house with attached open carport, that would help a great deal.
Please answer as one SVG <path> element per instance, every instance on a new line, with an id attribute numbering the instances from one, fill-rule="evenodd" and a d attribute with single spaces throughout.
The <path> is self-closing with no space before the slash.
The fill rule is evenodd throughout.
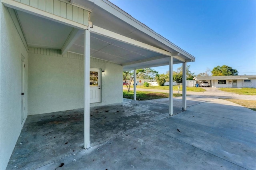
<path id="1" fill-rule="evenodd" d="M 192 61 L 107 0 L 0 0 L 0 169 L 28 115 L 84 108 L 89 148 L 90 106 L 122 102 L 122 71 L 169 65 L 172 77 Z"/>

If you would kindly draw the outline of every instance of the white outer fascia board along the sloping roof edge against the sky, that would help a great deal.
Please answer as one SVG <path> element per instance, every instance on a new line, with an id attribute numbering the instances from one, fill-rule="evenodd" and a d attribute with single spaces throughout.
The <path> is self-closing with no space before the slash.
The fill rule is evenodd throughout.
<path id="1" fill-rule="evenodd" d="M 180 47 L 174 45 L 166 38 L 160 36 L 150 28 L 148 28 L 146 25 L 142 24 L 138 20 L 134 19 L 132 16 L 112 4 L 111 2 L 108 2 L 107 0 L 91 0 L 91 2 L 94 2 L 97 6 L 100 8 L 103 8 L 104 10 L 110 12 L 112 15 L 118 17 L 119 19 L 123 20 L 124 22 L 130 24 L 131 26 L 134 26 L 141 32 L 144 32 L 145 34 L 151 36 L 152 38 L 158 40 L 159 42 L 163 43 L 164 45 L 167 45 L 168 47 L 174 49 L 175 51 L 182 53 L 184 56 L 188 57 L 189 59 L 192 59 L 192 61 L 195 60 L 195 57 L 192 56 L 190 53 L 184 51 Z"/>

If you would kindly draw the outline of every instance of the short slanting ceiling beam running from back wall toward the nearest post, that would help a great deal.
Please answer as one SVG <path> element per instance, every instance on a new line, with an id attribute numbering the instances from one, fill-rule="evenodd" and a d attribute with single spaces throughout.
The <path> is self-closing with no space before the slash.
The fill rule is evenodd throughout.
<path id="1" fill-rule="evenodd" d="M 61 55 L 66 53 L 68 49 L 73 45 L 73 43 L 76 41 L 76 39 L 82 34 L 84 30 L 78 30 L 76 28 L 73 28 L 72 31 L 70 32 L 66 42 L 61 48 Z"/>

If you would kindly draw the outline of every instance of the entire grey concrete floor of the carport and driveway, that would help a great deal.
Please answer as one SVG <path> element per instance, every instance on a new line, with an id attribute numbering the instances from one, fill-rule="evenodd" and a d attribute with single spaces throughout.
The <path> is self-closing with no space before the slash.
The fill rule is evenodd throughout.
<path id="1" fill-rule="evenodd" d="M 255 111 L 188 96 L 170 117 L 168 102 L 91 107 L 87 150 L 83 109 L 28 116 L 7 169 L 256 169 Z"/>

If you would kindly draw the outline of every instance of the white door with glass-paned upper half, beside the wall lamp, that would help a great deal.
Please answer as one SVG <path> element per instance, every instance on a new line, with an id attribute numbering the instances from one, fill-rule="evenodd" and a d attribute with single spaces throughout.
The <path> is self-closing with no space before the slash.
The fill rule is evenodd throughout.
<path id="1" fill-rule="evenodd" d="M 101 101 L 101 70 L 90 69 L 90 103 Z"/>

